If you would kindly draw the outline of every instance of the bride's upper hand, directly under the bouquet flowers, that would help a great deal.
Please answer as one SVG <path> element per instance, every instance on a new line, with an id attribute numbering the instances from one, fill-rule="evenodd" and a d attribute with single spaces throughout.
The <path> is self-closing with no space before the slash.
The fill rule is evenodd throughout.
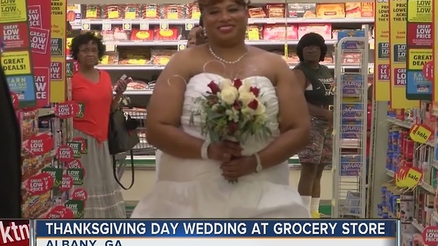
<path id="1" fill-rule="evenodd" d="M 228 162 L 233 156 L 241 156 L 242 147 L 239 143 L 232 141 L 220 141 L 218 143 L 210 143 L 208 146 L 209 159 Z"/>

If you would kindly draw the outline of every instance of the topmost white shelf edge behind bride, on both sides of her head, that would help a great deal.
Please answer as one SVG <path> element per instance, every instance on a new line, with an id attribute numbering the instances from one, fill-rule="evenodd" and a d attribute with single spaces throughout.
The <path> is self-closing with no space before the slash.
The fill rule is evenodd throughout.
<path id="1" fill-rule="evenodd" d="M 289 23 L 289 24 L 311 24 L 311 23 L 374 23 L 374 18 L 249 18 L 248 24 L 275 24 L 275 23 Z M 81 20 L 83 25 L 198 25 L 197 19 L 90 19 Z"/>

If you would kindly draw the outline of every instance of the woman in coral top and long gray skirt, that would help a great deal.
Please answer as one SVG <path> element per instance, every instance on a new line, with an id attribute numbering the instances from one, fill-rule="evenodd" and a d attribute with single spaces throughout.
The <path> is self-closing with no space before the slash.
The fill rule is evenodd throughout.
<path id="1" fill-rule="evenodd" d="M 125 218 L 125 202 L 113 178 L 107 135 L 110 110 L 117 109 L 126 83 L 119 83 L 113 97 L 107 72 L 96 70 L 105 53 L 101 38 L 83 33 L 72 40 L 70 54 L 79 63 L 72 78 L 73 100 L 81 113 L 73 120 L 74 136 L 86 139 L 88 152 L 81 155 L 86 170 L 83 189 L 88 193 L 85 218 Z"/>

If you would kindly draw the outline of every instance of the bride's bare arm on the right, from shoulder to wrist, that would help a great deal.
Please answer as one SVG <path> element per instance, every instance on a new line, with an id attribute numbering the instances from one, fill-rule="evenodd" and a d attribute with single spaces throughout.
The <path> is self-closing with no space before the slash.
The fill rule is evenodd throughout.
<path id="1" fill-rule="evenodd" d="M 259 152 L 263 168 L 283 163 L 307 146 L 310 140 L 310 115 L 302 87 L 283 58 L 274 59 L 274 68 L 278 68 L 276 95 L 279 98 L 281 135 Z"/>

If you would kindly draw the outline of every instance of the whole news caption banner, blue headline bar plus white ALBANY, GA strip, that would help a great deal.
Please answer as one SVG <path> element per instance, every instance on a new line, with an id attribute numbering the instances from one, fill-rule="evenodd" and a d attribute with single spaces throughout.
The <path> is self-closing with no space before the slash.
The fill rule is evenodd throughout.
<path id="1" fill-rule="evenodd" d="M 38 246 L 394 246 L 395 220 L 38 220 Z M 165 239 L 165 240 L 163 240 Z M 244 240 L 242 240 L 244 239 Z M 321 241 L 324 239 L 324 241 Z M 358 240 L 360 239 L 360 240 Z"/>

